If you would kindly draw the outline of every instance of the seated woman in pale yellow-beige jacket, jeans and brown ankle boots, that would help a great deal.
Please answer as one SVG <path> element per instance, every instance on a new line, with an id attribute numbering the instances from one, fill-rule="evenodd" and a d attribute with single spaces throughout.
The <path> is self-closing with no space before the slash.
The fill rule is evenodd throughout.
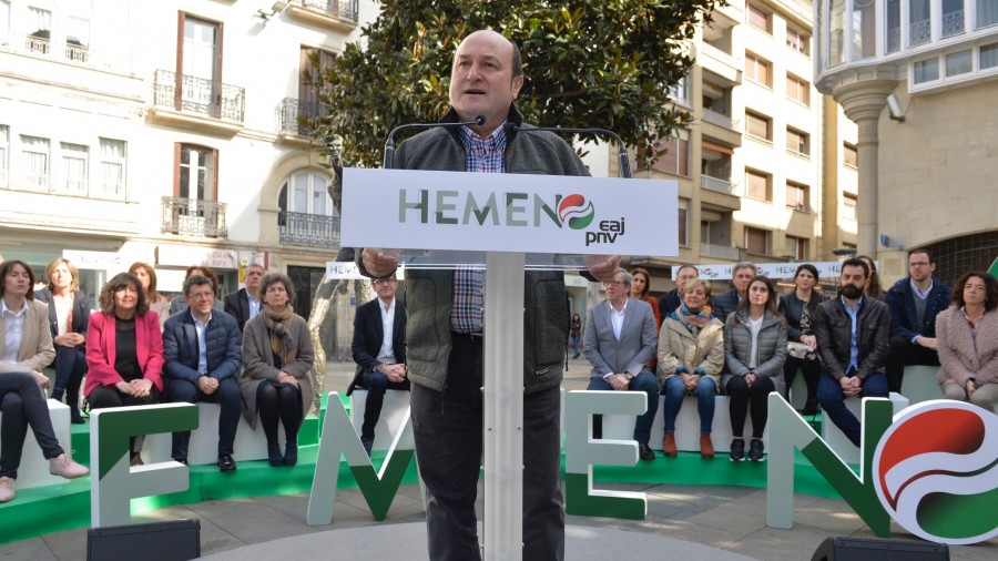
<path id="1" fill-rule="evenodd" d="M 711 285 L 694 278 L 680 288 L 683 298 L 680 307 L 670 310 L 659 333 L 659 380 L 665 394 L 665 438 L 662 451 L 673 457 L 675 448 L 675 418 L 685 396 L 696 396 L 700 412 L 700 455 L 714 457 L 711 428 L 714 420 L 714 397 L 724 368 L 724 325 L 711 317 L 706 304 Z"/>

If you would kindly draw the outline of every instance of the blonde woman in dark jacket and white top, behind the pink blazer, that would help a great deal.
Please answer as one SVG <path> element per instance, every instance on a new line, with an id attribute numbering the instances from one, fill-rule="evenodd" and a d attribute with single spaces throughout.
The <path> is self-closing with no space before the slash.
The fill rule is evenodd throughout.
<path id="1" fill-rule="evenodd" d="M 45 266 L 48 284 L 34 297 L 49 308 L 49 327 L 55 343 L 55 384 L 52 399 L 70 407 L 70 420 L 82 425 L 80 386 L 86 375 L 86 328 L 90 326 L 90 298 L 80 290 L 80 273 L 69 259 L 57 257 Z"/>

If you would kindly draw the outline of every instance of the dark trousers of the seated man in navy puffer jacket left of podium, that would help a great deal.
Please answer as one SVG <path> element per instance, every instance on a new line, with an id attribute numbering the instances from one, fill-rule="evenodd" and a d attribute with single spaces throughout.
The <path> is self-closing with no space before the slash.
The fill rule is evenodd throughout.
<path id="1" fill-rule="evenodd" d="M 232 456 L 236 429 L 240 426 L 240 415 L 243 412 L 243 396 L 240 394 L 240 384 L 235 378 L 221 380 L 218 389 L 211 395 L 201 391 L 201 388 L 187 380 L 167 379 L 166 401 L 171 404 L 196 404 L 197 401 L 220 404 L 222 411 L 218 414 L 218 455 Z M 190 441 L 190 430 L 173 434 L 173 451 L 171 453 L 173 459 L 187 458 Z"/>

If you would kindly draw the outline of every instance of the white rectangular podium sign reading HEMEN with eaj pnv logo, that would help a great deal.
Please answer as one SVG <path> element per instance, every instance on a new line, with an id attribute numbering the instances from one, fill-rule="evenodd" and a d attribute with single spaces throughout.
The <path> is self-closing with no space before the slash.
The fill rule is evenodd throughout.
<path id="1" fill-rule="evenodd" d="M 344 246 L 654 256 L 679 251 L 674 181 L 343 172 Z"/>

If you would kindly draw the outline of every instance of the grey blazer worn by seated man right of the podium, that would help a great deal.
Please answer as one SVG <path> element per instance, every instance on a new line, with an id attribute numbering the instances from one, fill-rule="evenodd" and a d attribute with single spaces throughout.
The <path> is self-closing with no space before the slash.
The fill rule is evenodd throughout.
<path id="1" fill-rule="evenodd" d="M 610 302 L 603 300 L 585 316 L 583 351 L 592 365 L 590 378 L 620 373 L 638 376 L 655 356 L 655 316 L 649 303 L 628 298 L 620 340 L 613 335 Z"/>

